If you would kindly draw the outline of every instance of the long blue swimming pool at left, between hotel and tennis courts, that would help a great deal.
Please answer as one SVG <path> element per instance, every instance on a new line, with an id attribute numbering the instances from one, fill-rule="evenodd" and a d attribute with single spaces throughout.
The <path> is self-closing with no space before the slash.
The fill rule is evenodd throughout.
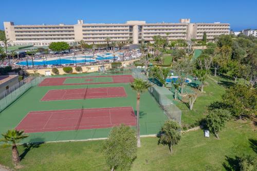
<path id="1" fill-rule="evenodd" d="M 80 58 L 61 58 L 61 59 L 50 59 L 47 60 L 29 60 L 28 65 L 60 65 L 60 64 L 76 64 L 76 63 L 85 63 L 85 62 L 96 62 L 94 59 L 88 59 L 90 56 L 84 56 L 83 59 L 82 57 Z M 17 65 L 27 65 L 27 61 L 21 61 L 17 62 Z"/>

